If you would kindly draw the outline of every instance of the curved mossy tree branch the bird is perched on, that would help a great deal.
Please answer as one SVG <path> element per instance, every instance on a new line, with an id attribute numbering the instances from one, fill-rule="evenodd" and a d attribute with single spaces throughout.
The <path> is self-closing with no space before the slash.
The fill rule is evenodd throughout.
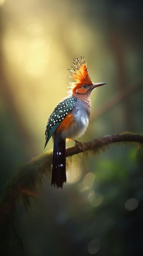
<path id="1" fill-rule="evenodd" d="M 73 156 L 84 151 L 92 151 L 99 154 L 106 150 L 112 143 L 116 142 L 137 142 L 143 144 L 143 135 L 132 134 L 130 132 L 107 135 L 99 139 L 84 142 L 81 150 L 79 147 L 72 146 L 66 148 L 66 157 Z M 42 155 L 34 157 L 31 161 L 23 166 L 20 171 L 10 180 L 1 201 L 1 220 L 13 218 L 16 205 L 19 200 L 23 201 L 26 209 L 31 207 L 31 198 L 37 197 L 35 190 L 42 181 L 51 174 L 53 151 L 48 151 Z M 68 159 L 68 162 L 70 159 Z M 70 162 L 69 162 L 70 164 Z M 5 216 L 5 217 L 4 217 Z"/>

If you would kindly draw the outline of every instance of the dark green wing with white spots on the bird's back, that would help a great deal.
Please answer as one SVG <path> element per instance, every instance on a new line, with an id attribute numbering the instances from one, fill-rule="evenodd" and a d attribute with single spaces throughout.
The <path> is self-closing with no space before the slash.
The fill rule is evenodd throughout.
<path id="1" fill-rule="evenodd" d="M 63 99 L 59 102 L 59 104 L 56 106 L 52 114 L 50 115 L 48 119 L 48 123 L 46 126 L 46 144 L 48 143 L 49 139 L 55 133 L 61 122 L 64 120 L 64 118 L 70 113 L 70 111 L 74 108 L 75 104 L 77 103 L 78 99 L 76 97 L 68 97 L 66 99 Z"/>

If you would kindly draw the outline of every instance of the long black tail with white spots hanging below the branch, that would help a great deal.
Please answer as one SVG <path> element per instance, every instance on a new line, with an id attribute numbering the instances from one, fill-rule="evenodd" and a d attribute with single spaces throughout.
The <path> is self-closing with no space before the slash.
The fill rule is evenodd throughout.
<path id="1" fill-rule="evenodd" d="M 55 134 L 51 186 L 54 184 L 62 189 L 64 182 L 66 183 L 66 141 Z"/>

